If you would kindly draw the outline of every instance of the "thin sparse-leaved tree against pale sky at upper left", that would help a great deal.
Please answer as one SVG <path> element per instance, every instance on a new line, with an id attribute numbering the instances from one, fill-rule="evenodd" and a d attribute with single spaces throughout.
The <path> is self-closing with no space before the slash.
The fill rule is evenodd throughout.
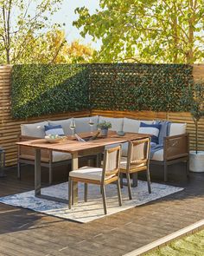
<path id="1" fill-rule="evenodd" d="M 0 0 L 0 62 L 19 62 L 41 33 L 50 28 L 50 16 L 61 1 Z"/>

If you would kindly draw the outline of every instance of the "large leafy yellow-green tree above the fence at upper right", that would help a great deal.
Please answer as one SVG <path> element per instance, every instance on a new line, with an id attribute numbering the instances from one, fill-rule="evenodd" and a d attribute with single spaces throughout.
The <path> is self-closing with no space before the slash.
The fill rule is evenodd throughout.
<path id="1" fill-rule="evenodd" d="M 100 0 L 77 8 L 81 36 L 102 40 L 96 61 L 194 63 L 204 60 L 203 0 Z"/>

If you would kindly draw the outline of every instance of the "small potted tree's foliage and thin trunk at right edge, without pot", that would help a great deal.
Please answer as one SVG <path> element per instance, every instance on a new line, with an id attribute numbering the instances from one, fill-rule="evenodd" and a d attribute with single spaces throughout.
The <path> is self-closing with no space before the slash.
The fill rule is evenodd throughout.
<path id="1" fill-rule="evenodd" d="M 204 82 L 184 89 L 182 102 L 189 106 L 195 125 L 195 151 L 198 152 L 198 122 L 204 116 Z"/>

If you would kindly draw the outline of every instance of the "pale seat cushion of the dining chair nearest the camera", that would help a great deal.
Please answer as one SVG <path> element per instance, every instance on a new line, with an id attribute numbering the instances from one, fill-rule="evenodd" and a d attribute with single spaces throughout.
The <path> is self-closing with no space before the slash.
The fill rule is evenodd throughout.
<path id="1" fill-rule="evenodd" d="M 69 176 L 74 178 L 101 181 L 102 168 L 99 167 L 81 167 L 69 173 Z"/>

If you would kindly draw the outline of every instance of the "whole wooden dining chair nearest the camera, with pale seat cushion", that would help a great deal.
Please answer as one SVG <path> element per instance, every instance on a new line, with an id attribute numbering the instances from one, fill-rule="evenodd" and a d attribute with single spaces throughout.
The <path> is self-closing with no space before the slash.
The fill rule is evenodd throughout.
<path id="1" fill-rule="evenodd" d="M 69 209 L 71 209 L 73 205 L 73 181 L 85 183 L 85 201 L 87 201 L 88 183 L 100 186 L 105 214 L 107 214 L 105 185 L 116 182 L 118 189 L 118 203 L 120 207 L 122 206 L 119 183 L 120 154 L 121 146 L 105 149 L 103 167 L 81 167 L 69 173 Z"/>

